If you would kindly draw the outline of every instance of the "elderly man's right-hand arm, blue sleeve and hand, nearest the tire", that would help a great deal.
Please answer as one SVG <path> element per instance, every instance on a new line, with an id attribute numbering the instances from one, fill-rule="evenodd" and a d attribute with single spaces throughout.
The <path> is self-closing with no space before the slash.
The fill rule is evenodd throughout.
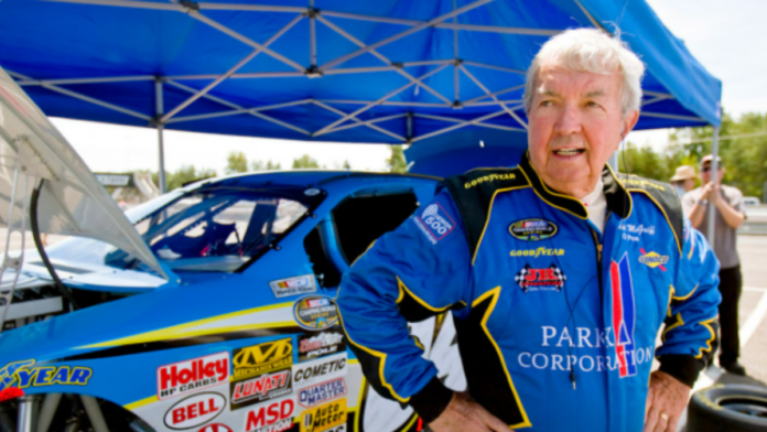
<path id="1" fill-rule="evenodd" d="M 684 248 L 670 287 L 663 345 L 656 350 L 660 369 L 652 372 L 645 431 L 677 430 L 690 389 L 715 346 L 719 261 L 702 234 L 684 220 Z"/>

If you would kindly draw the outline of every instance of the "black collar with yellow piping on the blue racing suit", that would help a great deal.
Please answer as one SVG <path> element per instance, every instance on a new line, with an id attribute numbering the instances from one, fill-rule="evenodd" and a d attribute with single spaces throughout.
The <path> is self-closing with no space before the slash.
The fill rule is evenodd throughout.
<path id="1" fill-rule="evenodd" d="M 522 171 L 528 182 L 530 182 L 532 190 L 544 203 L 554 208 L 568 212 L 581 219 L 588 218 L 588 212 L 580 199 L 560 194 L 549 188 L 549 186 L 543 183 L 530 163 L 529 152 L 525 152 L 522 155 L 519 162 L 519 169 Z M 604 184 L 605 198 L 607 199 L 607 209 L 615 213 L 615 215 L 622 219 L 627 218 L 628 215 L 631 214 L 631 196 L 615 176 L 609 165 L 605 165 L 604 170 L 602 170 L 602 183 Z"/>

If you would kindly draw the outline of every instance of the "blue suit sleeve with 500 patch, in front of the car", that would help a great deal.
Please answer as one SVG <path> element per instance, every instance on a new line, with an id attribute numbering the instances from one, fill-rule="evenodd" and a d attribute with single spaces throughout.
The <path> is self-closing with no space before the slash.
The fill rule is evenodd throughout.
<path id="1" fill-rule="evenodd" d="M 426 422 L 442 413 L 453 391 L 436 378 L 434 364 L 421 357 L 408 321 L 471 303 L 469 263 L 458 212 L 443 191 L 382 236 L 338 290 L 342 323 L 368 381 L 381 396 L 410 403 Z"/>

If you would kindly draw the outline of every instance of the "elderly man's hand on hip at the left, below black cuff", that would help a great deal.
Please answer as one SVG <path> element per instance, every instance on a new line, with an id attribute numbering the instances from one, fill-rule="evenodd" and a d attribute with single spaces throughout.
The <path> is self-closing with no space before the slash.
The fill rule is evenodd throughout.
<path id="1" fill-rule="evenodd" d="M 468 393 L 453 393 L 450 404 L 433 422 L 429 423 L 434 432 L 506 432 L 511 431 L 507 424 L 487 412 L 475 402 Z"/>

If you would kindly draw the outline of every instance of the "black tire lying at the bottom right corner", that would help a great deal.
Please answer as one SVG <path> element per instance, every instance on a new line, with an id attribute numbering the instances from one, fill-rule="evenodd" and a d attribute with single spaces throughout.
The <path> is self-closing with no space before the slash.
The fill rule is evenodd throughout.
<path id="1" fill-rule="evenodd" d="M 767 388 L 716 385 L 692 396 L 688 432 L 767 431 Z"/>

